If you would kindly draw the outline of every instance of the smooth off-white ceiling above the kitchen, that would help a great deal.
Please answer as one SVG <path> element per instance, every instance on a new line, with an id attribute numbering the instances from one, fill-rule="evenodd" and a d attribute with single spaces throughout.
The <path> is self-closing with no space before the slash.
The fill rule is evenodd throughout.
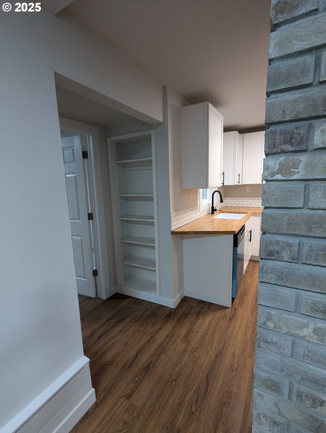
<path id="1" fill-rule="evenodd" d="M 225 130 L 240 132 L 264 128 L 269 10 L 270 0 L 75 0 L 64 9 L 188 102 L 211 102 Z M 67 116 L 87 100 L 66 92 L 58 88 Z M 107 110 L 94 102 L 89 122 L 130 120 Z"/>

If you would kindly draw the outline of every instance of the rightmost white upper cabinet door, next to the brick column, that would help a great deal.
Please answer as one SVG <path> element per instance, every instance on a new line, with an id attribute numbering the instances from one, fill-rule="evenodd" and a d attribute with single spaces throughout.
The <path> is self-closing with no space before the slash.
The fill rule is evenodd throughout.
<path id="1" fill-rule="evenodd" d="M 242 183 L 262 183 L 265 132 L 243 134 Z"/>

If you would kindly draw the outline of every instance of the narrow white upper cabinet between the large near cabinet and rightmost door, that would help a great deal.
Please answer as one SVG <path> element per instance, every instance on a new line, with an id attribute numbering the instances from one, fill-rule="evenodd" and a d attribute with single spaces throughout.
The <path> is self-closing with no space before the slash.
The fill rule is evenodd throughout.
<path id="1" fill-rule="evenodd" d="M 242 136 L 237 131 L 223 134 L 223 185 L 242 183 Z"/>

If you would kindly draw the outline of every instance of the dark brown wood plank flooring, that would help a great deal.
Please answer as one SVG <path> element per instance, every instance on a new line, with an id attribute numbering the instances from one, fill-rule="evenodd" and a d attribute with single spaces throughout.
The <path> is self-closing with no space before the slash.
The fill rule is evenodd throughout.
<path id="1" fill-rule="evenodd" d="M 232 308 L 80 296 L 97 401 L 72 433 L 250 433 L 257 284 L 250 261 Z"/>

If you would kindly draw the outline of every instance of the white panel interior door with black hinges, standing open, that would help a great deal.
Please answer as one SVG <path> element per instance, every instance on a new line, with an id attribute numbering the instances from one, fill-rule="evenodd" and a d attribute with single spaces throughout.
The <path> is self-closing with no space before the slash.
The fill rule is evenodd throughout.
<path id="1" fill-rule="evenodd" d="M 83 159 L 83 138 L 62 138 L 70 228 L 78 294 L 95 297 L 91 221 L 88 220 L 88 188 Z"/>

